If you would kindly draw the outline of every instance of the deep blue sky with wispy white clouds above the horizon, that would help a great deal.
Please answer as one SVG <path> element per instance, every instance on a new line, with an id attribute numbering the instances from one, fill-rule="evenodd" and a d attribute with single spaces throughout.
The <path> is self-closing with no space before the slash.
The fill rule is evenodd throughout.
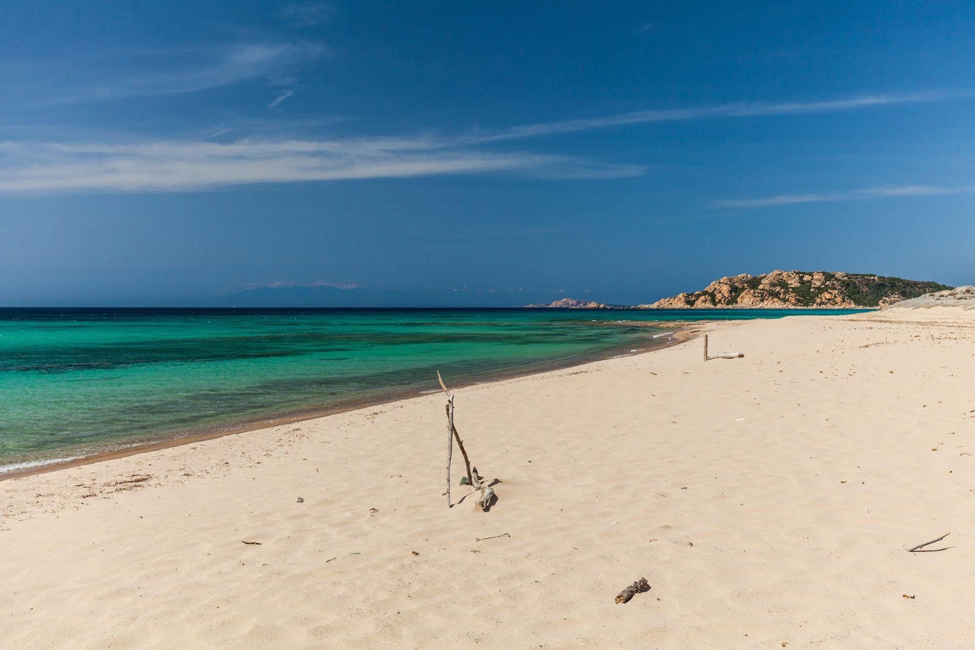
<path id="1" fill-rule="evenodd" d="M 11 3 L 0 305 L 973 283 L 973 28 L 961 2 Z"/>

